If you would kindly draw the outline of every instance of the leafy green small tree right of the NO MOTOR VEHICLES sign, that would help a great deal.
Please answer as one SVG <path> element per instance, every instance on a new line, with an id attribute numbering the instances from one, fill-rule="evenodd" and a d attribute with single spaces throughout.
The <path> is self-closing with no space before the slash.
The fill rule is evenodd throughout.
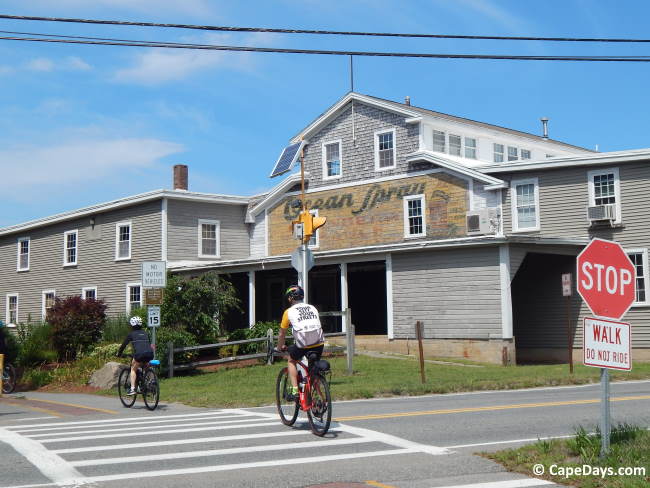
<path id="1" fill-rule="evenodd" d="M 241 310 L 239 303 L 235 287 L 224 276 L 209 272 L 185 279 L 170 273 L 162 321 L 184 328 L 199 342 L 210 342 L 221 333 L 221 317 L 229 310 Z"/>

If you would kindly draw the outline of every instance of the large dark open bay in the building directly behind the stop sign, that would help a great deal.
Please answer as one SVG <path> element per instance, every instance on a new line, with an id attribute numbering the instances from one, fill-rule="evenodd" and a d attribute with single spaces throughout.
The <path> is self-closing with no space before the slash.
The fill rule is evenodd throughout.
<path id="1" fill-rule="evenodd" d="M 517 362 L 568 360 L 569 333 L 575 338 L 580 310 L 575 293 L 575 259 L 560 254 L 528 253 L 521 263 L 511 284 Z M 574 294 L 568 307 L 567 298 L 562 296 L 563 273 L 572 273 L 574 280 Z"/>

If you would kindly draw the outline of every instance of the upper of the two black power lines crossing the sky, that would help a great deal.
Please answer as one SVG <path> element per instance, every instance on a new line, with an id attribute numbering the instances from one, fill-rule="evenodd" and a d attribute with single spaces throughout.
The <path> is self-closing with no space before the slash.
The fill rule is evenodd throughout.
<path id="1" fill-rule="evenodd" d="M 44 22 L 68 22 L 77 24 L 101 24 L 136 27 L 163 27 L 172 29 L 194 29 L 221 32 L 265 32 L 276 34 L 317 34 L 335 36 L 372 36 L 372 37 L 405 37 L 423 39 L 468 39 L 493 41 L 550 41 L 550 42 L 616 42 L 616 43 L 647 43 L 650 39 L 634 38 L 598 38 L 598 37 L 532 37 L 532 36 L 469 36 L 452 34 L 414 34 L 395 32 L 359 32 L 359 31 L 330 31 L 309 29 L 275 29 L 265 27 L 229 27 L 215 25 L 193 24 L 160 24 L 155 22 L 128 22 L 125 20 L 74 19 L 66 17 L 33 17 L 25 15 L 0 15 L 0 19 L 31 20 Z"/>

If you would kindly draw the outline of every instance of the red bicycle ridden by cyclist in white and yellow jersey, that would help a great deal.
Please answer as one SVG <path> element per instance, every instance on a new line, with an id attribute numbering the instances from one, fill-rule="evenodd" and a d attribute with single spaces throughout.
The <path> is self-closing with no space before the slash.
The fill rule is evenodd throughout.
<path id="1" fill-rule="evenodd" d="M 285 366 L 280 370 L 275 383 L 275 401 L 280 420 L 284 425 L 293 425 L 298 418 L 298 411 L 307 412 L 311 431 L 317 436 L 324 436 L 332 421 L 332 399 L 330 387 L 325 374 L 330 365 L 324 359 L 317 360 L 316 353 L 307 355 L 307 364 L 298 361 L 299 397 L 291 394 L 291 378 Z"/>

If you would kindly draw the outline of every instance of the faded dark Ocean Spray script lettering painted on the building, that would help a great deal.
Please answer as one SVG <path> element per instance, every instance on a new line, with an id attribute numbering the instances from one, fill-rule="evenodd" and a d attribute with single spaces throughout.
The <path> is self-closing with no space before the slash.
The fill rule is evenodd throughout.
<path id="1" fill-rule="evenodd" d="M 366 210 L 376 207 L 382 202 L 388 202 L 393 198 L 401 199 L 409 195 L 419 195 L 424 193 L 425 183 L 413 183 L 407 185 L 394 185 L 388 188 L 382 188 L 378 184 L 372 185 L 360 201 L 355 201 L 354 194 L 343 193 L 332 195 L 327 198 L 317 198 L 315 200 L 305 200 L 305 205 L 309 209 L 335 209 L 335 208 L 352 208 L 352 215 L 360 215 Z M 444 198 L 444 197 L 443 197 Z M 300 213 L 300 208 L 294 208 L 292 203 L 295 197 L 289 198 L 284 203 L 284 218 L 294 220 Z"/>

